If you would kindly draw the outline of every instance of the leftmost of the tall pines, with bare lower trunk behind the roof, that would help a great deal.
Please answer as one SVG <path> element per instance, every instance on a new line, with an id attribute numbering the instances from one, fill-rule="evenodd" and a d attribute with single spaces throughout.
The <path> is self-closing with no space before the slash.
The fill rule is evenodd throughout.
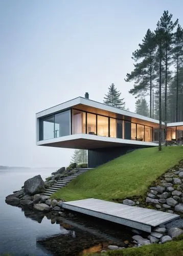
<path id="1" fill-rule="evenodd" d="M 152 89 L 153 80 L 155 79 L 154 68 L 155 62 L 155 35 L 150 29 L 142 40 L 142 44 L 139 44 L 139 49 L 132 53 L 135 64 L 134 70 L 129 74 L 125 81 L 134 81 L 134 87 L 129 91 L 136 97 L 144 97 L 150 94 L 150 117 L 152 117 Z M 141 62 L 139 62 L 141 61 Z"/>

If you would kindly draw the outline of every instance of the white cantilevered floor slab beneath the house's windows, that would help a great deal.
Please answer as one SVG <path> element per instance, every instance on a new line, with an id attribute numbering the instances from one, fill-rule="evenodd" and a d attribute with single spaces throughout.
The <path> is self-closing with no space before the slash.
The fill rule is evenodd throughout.
<path id="1" fill-rule="evenodd" d="M 37 141 L 37 145 L 91 150 L 103 147 L 149 147 L 157 143 L 102 137 L 90 134 L 74 134 L 49 140 Z"/>

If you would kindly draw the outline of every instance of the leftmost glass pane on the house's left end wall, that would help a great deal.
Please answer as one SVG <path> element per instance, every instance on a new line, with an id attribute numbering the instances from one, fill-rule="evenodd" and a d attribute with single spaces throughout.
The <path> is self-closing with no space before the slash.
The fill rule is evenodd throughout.
<path id="1" fill-rule="evenodd" d="M 39 140 L 54 138 L 54 115 L 39 120 Z"/>

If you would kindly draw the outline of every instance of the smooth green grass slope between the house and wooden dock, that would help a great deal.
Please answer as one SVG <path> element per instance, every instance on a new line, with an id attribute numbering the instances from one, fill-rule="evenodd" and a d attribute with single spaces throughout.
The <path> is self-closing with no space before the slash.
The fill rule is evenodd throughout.
<path id="1" fill-rule="evenodd" d="M 183 159 L 183 146 L 142 148 L 116 158 L 73 180 L 52 195 L 66 201 L 98 198 L 116 200 L 142 196 L 148 186 Z"/>

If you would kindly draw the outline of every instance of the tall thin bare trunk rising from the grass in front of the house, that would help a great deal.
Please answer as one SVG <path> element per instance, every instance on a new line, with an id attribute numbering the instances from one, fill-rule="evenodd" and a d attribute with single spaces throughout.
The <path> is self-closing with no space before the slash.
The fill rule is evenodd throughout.
<path id="1" fill-rule="evenodd" d="M 159 45 L 159 151 L 162 151 L 162 43 Z"/>

